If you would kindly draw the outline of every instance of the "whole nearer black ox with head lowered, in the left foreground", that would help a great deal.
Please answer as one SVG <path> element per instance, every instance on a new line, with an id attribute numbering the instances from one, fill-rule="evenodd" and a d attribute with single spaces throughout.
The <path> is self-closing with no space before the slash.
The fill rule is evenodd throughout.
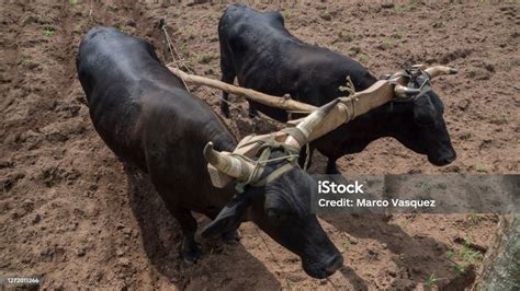
<path id="1" fill-rule="evenodd" d="M 246 186 L 241 195 L 233 183 L 213 186 L 205 159 L 237 181 L 249 176 L 251 164 L 226 153 L 237 147 L 228 128 L 159 62 L 150 44 L 114 28 L 93 28 L 80 44 L 77 70 L 95 130 L 117 156 L 148 173 L 180 223 L 185 260 L 201 255 L 191 213 L 196 211 L 213 219 L 203 235 L 233 237 L 241 221 L 253 221 L 297 254 L 313 277 L 330 276 L 342 265 L 342 256 L 309 213 L 316 182 L 294 161 L 269 162 L 258 179 L 286 171 L 265 185 Z M 293 139 L 273 146 L 268 158 L 283 158 L 287 149 L 299 151 L 294 144 Z M 289 163 L 294 166 L 286 167 Z"/>

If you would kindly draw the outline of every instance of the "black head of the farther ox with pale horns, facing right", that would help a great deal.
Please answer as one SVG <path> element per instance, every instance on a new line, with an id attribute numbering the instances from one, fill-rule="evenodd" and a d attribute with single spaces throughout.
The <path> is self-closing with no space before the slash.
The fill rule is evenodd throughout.
<path id="1" fill-rule="evenodd" d="M 430 163 L 446 165 L 456 159 L 456 153 L 443 118 L 444 104 L 430 80 L 456 70 L 436 66 L 423 71 L 412 68 L 407 73 L 407 86 L 396 85 L 397 98 L 391 104 L 392 113 L 405 119 L 399 121 L 394 137 L 412 151 L 428 155 Z"/>

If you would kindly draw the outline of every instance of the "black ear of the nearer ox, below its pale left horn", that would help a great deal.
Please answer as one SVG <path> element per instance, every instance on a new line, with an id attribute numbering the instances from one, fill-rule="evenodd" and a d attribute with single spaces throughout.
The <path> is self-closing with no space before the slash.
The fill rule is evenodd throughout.
<path id="1" fill-rule="evenodd" d="M 235 195 L 221 210 L 218 216 L 202 230 L 201 235 L 205 238 L 210 238 L 236 231 L 240 226 L 244 214 L 250 205 L 251 199 L 249 199 L 247 195 Z"/>

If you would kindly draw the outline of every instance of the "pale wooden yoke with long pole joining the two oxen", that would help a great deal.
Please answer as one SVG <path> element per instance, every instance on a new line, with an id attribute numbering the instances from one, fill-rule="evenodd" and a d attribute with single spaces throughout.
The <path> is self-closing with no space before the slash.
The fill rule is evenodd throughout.
<path id="1" fill-rule="evenodd" d="M 423 74 L 427 78 L 425 82 L 428 82 L 430 77 L 456 73 L 456 70 L 444 66 L 431 67 L 426 70 L 422 70 L 425 67 L 421 65 L 414 67 L 425 71 Z M 405 86 L 404 83 L 408 77 L 398 72 L 393 74 L 389 80 L 380 80 L 362 92 L 357 92 L 348 97 L 338 97 L 321 107 L 316 107 L 221 81 L 188 74 L 177 68 L 168 68 L 188 83 L 208 85 L 285 110 L 310 113 L 307 117 L 287 123 L 290 126 L 296 126 L 297 130 L 293 131 L 294 135 L 286 129 L 262 136 L 250 135 L 240 140 L 233 153 L 214 151 L 213 143 L 208 142 L 204 148 L 204 156 L 208 161 L 207 168 L 215 187 L 224 187 L 234 179 L 238 179 L 240 183 L 244 183 L 244 181 L 249 183 L 251 177 L 256 176 L 258 170 L 258 164 L 253 161 L 262 140 L 274 139 L 299 150 L 305 143 L 323 137 L 373 108 L 396 98 L 409 100 L 409 97 L 420 92 L 420 89 Z"/>

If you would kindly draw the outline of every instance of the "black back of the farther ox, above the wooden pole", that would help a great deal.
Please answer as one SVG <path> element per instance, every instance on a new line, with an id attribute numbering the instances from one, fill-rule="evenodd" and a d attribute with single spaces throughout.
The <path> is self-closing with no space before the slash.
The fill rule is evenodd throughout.
<path id="1" fill-rule="evenodd" d="M 246 5 L 229 5 L 218 24 L 221 66 L 225 82 L 238 83 L 271 95 L 321 106 L 346 93 L 339 86 L 350 75 L 361 91 L 377 81 L 359 62 L 309 46 L 291 35 L 279 12 L 257 12 Z M 286 121 L 287 115 L 251 102 L 272 118 Z"/>

